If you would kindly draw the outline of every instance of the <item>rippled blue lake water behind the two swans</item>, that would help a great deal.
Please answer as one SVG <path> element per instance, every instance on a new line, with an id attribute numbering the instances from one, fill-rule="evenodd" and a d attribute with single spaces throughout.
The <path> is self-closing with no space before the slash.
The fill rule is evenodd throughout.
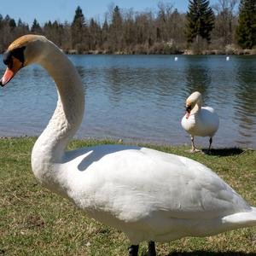
<path id="1" fill-rule="evenodd" d="M 190 144 L 180 121 L 195 90 L 220 118 L 213 147 L 256 148 L 256 56 L 70 55 L 84 83 L 79 138 Z M 5 70 L 1 58 L 1 77 Z M 57 63 L 56 63 L 57 65 Z M 38 136 L 55 109 L 56 91 L 38 66 L 0 89 L 0 137 Z M 207 146 L 208 138 L 195 137 Z"/>

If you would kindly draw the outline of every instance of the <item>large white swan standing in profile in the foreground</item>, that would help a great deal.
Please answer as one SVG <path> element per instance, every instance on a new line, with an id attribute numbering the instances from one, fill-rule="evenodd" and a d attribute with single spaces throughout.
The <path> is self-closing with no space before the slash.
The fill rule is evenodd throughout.
<path id="1" fill-rule="evenodd" d="M 84 113 L 84 91 L 71 61 L 47 38 L 18 38 L 3 55 L 7 84 L 21 67 L 42 65 L 55 80 L 55 113 L 32 149 L 40 183 L 131 240 L 172 241 L 256 225 L 256 208 L 206 166 L 149 148 L 102 145 L 65 151 Z"/>

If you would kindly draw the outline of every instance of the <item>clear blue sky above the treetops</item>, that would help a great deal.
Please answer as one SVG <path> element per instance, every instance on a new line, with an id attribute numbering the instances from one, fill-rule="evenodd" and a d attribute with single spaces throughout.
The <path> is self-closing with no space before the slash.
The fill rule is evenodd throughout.
<path id="1" fill-rule="evenodd" d="M 73 20 L 75 9 L 80 6 L 83 10 L 85 19 L 103 18 L 113 3 L 120 9 L 134 9 L 143 11 L 147 9 L 157 9 L 159 0 L 0 0 L 0 14 L 5 17 L 9 15 L 16 21 L 20 18 L 22 21 L 32 24 L 35 18 L 40 25 L 51 20 L 71 22 Z M 163 3 L 173 3 L 174 8 L 179 12 L 186 12 L 189 0 L 162 0 Z M 211 5 L 218 3 L 218 0 L 210 0 Z"/>

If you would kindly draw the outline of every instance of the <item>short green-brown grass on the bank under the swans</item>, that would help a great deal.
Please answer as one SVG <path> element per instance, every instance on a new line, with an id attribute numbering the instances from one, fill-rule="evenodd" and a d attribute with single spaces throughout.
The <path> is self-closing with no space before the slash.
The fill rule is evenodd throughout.
<path id="1" fill-rule="evenodd" d="M 87 218 L 33 177 L 34 142 L 31 137 L 0 140 L 0 255 L 127 255 L 129 241 L 122 232 Z M 70 148 L 98 143 L 110 142 L 74 141 Z M 256 206 L 255 150 L 217 149 L 207 155 L 186 153 L 186 147 L 147 146 L 198 160 Z M 256 255 L 256 228 L 156 243 L 156 249 L 158 255 Z M 146 253 L 143 242 L 139 254 Z"/>

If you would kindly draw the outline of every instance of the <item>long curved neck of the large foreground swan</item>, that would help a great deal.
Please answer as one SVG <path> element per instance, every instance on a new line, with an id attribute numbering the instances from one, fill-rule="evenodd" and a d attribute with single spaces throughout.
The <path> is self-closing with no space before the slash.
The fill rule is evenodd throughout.
<path id="1" fill-rule="evenodd" d="M 60 162 L 69 140 L 79 129 L 84 115 L 84 90 L 71 61 L 55 44 L 45 43 L 44 56 L 38 61 L 54 79 L 58 102 L 49 125 L 32 150 L 32 159 Z"/>

